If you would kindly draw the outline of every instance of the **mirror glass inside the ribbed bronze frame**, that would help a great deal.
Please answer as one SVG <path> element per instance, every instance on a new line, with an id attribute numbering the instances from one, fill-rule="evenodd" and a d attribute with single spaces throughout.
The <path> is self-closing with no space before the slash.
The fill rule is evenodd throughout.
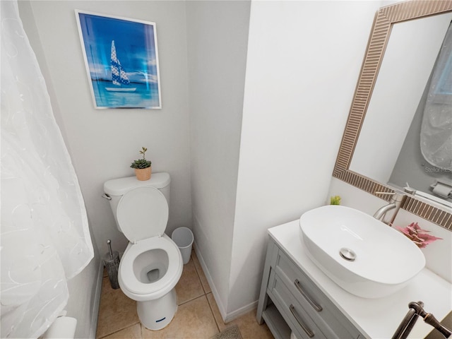
<path id="1" fill-rule="evenodd" d="M 350 170 L 452 206 L 452 13 L 393 25 Z M 424 195 L 425 196 L 425 195 Z"/>

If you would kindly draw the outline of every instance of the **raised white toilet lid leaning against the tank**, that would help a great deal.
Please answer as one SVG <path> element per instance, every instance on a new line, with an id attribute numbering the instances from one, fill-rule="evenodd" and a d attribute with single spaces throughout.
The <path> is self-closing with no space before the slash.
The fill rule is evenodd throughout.
<path id="1" fill-rule="evenodd" d="M 117 220 L 130 242 L 160 236 L 168 222 L 167 199 L 154 187 L 132 189 L 118 203 Z"/>

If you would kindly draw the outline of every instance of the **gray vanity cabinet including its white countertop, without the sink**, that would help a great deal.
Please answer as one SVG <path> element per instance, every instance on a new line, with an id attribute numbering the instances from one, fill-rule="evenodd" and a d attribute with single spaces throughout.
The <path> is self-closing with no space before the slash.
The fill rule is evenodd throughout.
<path id="1" fill-rule="evenodd" d="M 452 310 L 452 284 L 424 268 L 403 289 L 384 298 L 362 298 L 328 278 L 304 251 L 299 220 L 268 229 L 268 248 L 257 320 L 277 339 L 392 338 L 408 312 L 422 300 L 436 319 Z M 428 286 L 428 288 L 426 288 Z M 432 326 L 418 320 L 408 338 L 425 338 Z"/>

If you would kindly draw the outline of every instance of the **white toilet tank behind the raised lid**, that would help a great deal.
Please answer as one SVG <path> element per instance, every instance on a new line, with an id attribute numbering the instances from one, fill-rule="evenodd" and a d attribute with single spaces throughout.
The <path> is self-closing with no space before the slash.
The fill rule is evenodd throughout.
<path id="1" fill-rule="evenodd" d="M 133 177 L 124 177 L 118 179 L 112 179 L 104 184 L 104 197 L 109 199 L 110 207 L 112 208 L 114 221 L 118 227 L 118 230 L 122 232 L 121 228 L 118 225 L 117 220 L 117 207 L 118 203 L 121 200 L 121 197 L 126 194 L 131 189 L 136 189 L 137 187 L 155 187 L 158 189 L 167 199 L 167 203 L 169 206 L 169 183 L 171 182 L 171 178 L 169 174 L 166 172 L 153 173 L 149 180 L 140 181 Z"/>

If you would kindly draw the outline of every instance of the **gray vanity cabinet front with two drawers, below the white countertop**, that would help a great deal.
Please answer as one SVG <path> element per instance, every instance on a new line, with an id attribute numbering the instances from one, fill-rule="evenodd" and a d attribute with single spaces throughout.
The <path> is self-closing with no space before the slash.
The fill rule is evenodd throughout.
<path id="1" fill-rule="evenodd" d="M 270 237 L 257 309 L 277 339 L 347 339 L 359 331 Z"/>

